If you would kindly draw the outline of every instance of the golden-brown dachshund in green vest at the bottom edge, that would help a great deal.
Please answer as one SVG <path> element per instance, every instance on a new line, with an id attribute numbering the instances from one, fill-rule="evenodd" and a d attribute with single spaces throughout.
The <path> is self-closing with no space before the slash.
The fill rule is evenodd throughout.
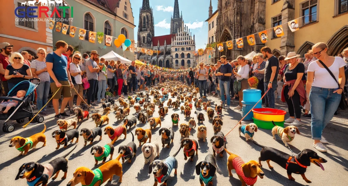
<path id="1" fill-rule="evenodd" d="M 120 162 L 122 154 L 119 154 L 115 160 L 110 160 L 93 171 L 87 167 L 77 168 L 73 178 L 67 186 L 81 185 L 102 185 L 106 180 L 111 183 L 113 175 L 119 176 L 118 183 L 122 182 L 122 164 Z"/>

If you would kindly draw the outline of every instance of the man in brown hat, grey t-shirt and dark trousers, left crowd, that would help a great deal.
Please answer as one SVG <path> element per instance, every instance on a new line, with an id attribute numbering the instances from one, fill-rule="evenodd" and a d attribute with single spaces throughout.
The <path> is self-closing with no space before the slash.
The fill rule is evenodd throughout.
<path id="1" fill-rule="evenodd" d="M 97 60 L 99 57 L 99 54 L 97 51 L 91 51 L 90 58 L 86 61 L 86 72 L 87 72 L 87 79 L 89 82 L 89 89 L 88 89 L 88 95 L 87 95 L 87 103 L 89 106 L 94 107 L 98 106 L 94 103 L 94 94 L 97 90 L 97 83 L 98 83 L 98 72 L 100 71 L 97 63 L 95 60 Z"/>

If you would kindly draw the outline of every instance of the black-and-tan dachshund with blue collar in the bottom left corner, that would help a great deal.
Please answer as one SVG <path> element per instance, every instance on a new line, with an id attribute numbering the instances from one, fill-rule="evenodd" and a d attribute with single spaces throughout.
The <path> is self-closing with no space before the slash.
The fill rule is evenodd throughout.
<path id="1" fill-rule="evenodd" d="M 48 180 L 52 178 L 54 174 L 56 174 L 56 176 L 52 178 L 55 180 L 61 170 L 64 172 L 62 179 L 66 179 L 66 173 L 68 172 L 68 159 L 66 156 L 73 152 L 75 148 L 76 146 L 68 154 L 57 157 L 44 165 L 41 165 L 38 162 L 24 163 L 19 168 L 15 180 L 19 178 L 26 178 L 28 185 L 47 185 Z"/>

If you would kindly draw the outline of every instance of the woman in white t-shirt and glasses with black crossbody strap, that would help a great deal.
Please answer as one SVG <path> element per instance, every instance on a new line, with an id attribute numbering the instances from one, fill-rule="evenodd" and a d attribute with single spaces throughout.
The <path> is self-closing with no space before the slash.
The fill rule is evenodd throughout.
<path id="1" fill-rule="evenodd" d="M 312 47 L 313 55 L 318 60 L 309 64 L 306 84 L 306 91 L 309 94 L 311 104 L 313 147 L 320 152 L 327 152 L 323 143 L 327 144 L 328 142 L 322 136 L 322 133 L 340 104 L 346 81 L 344 74 L 346 63 L 341 57 L 329 56 L 326 53 L 327 49 L 327 45 L 323 42 L 319 42 Z M 322 61 L 329 68 L 339 83 L 319 61 Z"/>

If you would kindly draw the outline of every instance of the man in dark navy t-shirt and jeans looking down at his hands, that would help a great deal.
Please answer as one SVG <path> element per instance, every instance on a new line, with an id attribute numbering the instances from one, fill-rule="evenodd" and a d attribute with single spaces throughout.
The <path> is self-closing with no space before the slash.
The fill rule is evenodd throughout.
<path id="1" fill-rule="evenodd" d="M 221 66 L 220 72 L 217 72 L 216 75 L 220 76 L 220 93 L 221 101 L 224 109 L 230 109 L 231 96 L 230 96 L 230 78 L 232 76 L 232 66 L 228 63 L 226 56 L 221 56 Z M 227 98 L 227 106 L 225 106 L 225 95 Z"/>

